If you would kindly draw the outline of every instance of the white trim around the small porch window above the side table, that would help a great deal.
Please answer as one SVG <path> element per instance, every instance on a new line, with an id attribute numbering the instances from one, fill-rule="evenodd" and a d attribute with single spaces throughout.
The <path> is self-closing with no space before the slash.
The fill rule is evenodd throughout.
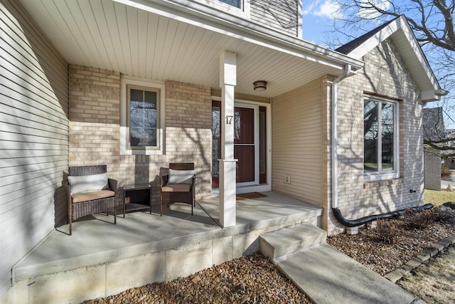
<path id="1" fill-rule="evenodd" d="M 156 126 L 156 147 L 132 147 L 129 146 L 129 125 L 128 125 L 128 85 L 139 86 L 159 90 L 159 117 Z M 122 75 L 120 78 L 120 154 L 121 155 L 156 155 L 164 154 L 164 130 L 165 130 L 165 100 L 166 86 L 163 81 L 137 78 L 129 75 Z"/>

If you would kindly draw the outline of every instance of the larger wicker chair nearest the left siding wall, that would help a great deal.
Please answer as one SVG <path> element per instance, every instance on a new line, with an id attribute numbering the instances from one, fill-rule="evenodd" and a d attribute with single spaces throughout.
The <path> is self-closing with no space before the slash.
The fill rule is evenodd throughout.
<path id="1" fill-rule="evenodd" d="M 94 174 L 107 173 L 107 166 L 82 166 L 70 167 L 68 179 L 71 177 L 85 177 Z M 89 177 L 87 177 L 88 179 Z M 107 179 L 108 189 L 73 193 L 70 182 L 65 183 L 68 194 L 68 221 L 70 223 L 70 235 L 73 234 L 72 223 L 82 216 L 90 214 L 114 212 L 114 224 L 117 224 L 117 211 L 115 194 L 117 192 L 117 180 Z M 73 186 L 75 186 L 73 184 Z M 73 187 L 74 188 L 74 187 Z"/>

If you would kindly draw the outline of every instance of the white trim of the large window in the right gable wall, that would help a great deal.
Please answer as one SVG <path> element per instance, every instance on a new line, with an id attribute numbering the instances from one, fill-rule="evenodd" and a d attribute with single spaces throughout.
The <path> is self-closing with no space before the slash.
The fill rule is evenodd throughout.
<path id="1" fill-rule="evenodd" d="M 386 172 L 386 173 L 381 173 L 381 172 L 363 172 L 363 180 L 364 182 L 375 182 L 375 181 L 381 181 L 381 180 L 386 180 L 386 179 L 397 179 L 400 177 L 400 103 L 398 103 L 397 100 L 390 100 L 388 98 L 383 98 L 383 97 L 378 97 L 374 95 L 368 95 L 364 94 L 363 95 L 363 100 L 375 100 L 380 103 L 389 103 L 394 105 L 394 111 L 395 115 L 393 117 L 393 127 L 394 127 L 394 149 L 393 149 L 393 159 L 394 159 L 394 170 L 392 172 Z M 379 112 L 378 115 L 378 127 L 380 128 L 380 121 L 381 121 L 381 114 L 382 111 Z M 380 132 L 380 129 L 378 129 L 378 132 Z M 365 134 L 363 135 L 365 137 Z M 382 137 L 381 137 L 382 141 Z M 378 162 L 381 162 L 382 160 L 382 142 L 380 142 L 380 149 L 378 149 Z"/>

